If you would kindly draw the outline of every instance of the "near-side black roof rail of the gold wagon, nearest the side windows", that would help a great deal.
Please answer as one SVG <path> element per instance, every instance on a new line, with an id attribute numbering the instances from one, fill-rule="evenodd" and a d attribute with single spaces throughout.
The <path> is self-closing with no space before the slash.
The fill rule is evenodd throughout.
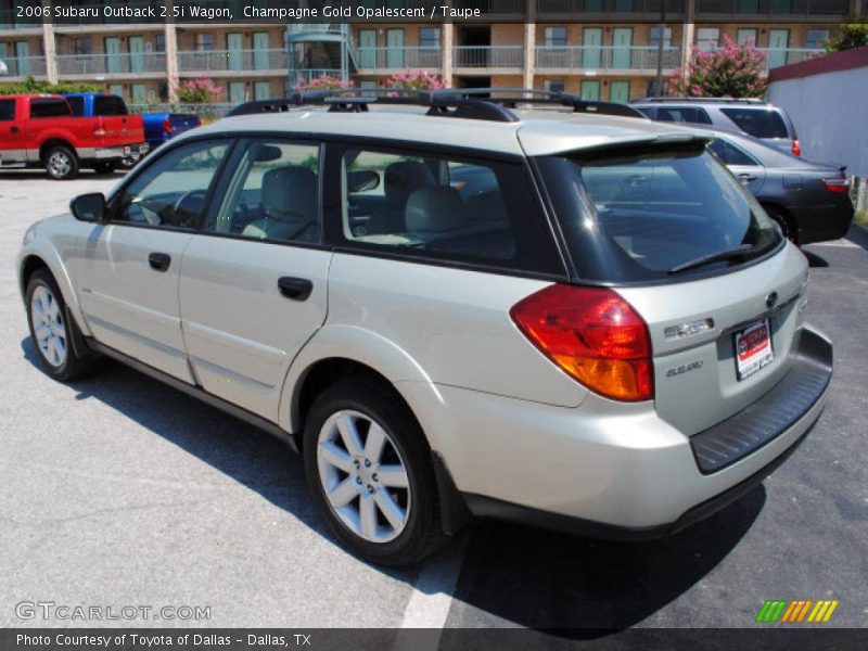
<path id="1" fill-rule="evenodd" d="M 365 113 L 369 104 L 427 106 L 429 115 L 518 122 L 510 111 L 492 102 L 463 98 L 449 91 L 399 88 L 345 88 L 296 91 L 281 100 L 258 100 L 239 104 L 228 116 L 278 113 L 301 106 L 328 106 L 335 113 Z"/>

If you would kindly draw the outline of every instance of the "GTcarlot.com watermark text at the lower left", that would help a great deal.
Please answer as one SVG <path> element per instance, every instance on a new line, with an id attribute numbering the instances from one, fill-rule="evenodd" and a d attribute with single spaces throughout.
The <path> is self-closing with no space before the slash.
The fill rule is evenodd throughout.
<path id="1" fill-rule="evenodd" d="M 20 620 L 59 620 L 62 622 L 133 622 L 184 621 L 207 622 L 209 605 L 97 605 L 68 604 L 55 601 L 20 601 L 15 604 Z"/>

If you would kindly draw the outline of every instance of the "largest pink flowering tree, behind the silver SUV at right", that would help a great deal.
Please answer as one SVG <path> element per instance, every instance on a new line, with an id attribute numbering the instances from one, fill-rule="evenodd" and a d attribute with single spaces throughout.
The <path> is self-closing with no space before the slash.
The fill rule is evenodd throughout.
<path id="1" fill-rule="evenodd" d="M 756 98 L 766 91 L 766 56 L 753 42 L 737 43 L 724 35 L 718 50 L 694 49 L 687 69 L 675 71 L 675 93 L 686 97 Z"/>

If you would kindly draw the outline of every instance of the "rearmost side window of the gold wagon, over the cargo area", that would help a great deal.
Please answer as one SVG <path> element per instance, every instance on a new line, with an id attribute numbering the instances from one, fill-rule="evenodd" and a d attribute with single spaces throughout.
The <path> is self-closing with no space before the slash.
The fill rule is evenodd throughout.
<path id="1" fill-rule="evenodd" d="M 520 163 L 347 149 L 344 242 L 405 256 L 562 272 Z"/>

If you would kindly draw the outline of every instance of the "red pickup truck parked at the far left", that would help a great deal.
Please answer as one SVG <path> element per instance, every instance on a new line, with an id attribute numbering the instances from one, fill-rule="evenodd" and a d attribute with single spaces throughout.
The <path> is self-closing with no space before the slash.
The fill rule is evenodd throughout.
<path id="1" fill-rule="evenodd" d="M 107 174 L 146 146 L 139 115 L 75 117 L 60 95 L 0 95 L 0 169 L 44 167 L 52 179 L 82 167 Z"/>

